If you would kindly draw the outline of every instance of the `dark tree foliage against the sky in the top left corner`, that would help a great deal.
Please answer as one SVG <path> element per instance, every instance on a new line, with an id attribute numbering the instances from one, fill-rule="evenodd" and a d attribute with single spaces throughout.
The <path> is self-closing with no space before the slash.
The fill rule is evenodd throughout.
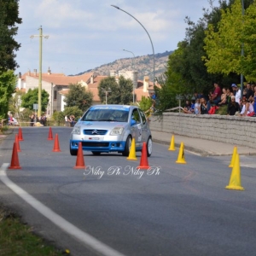
<path id="1" fill-rule="evenodd" d="M 18 32 L 18 0 L 0 0 L 0 71 L 14 70 L 19 67 L 15 61 L 15 51 L 20 48 L 14 37 Z"/>

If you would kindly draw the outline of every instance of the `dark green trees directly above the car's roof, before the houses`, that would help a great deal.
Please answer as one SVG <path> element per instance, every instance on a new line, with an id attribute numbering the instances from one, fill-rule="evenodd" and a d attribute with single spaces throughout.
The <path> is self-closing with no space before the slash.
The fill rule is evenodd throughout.
<path id="1" fill-rule="evenodd" d="M 108 104 L 130 104 L 132 102 L 132 88 L 131 79 L 125 79 L 123 76 L 119 77 L 119 83 L 114 77 L 102 79 L 99 84 L 99 97 L 101 102 L 106 103 L 106 94 Z"/>

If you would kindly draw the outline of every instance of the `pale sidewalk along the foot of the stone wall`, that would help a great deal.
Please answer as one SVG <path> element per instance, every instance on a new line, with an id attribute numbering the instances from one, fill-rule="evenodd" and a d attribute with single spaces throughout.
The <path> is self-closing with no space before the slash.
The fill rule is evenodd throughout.
<path id="1" fill-rule="evenodd" d="M 153 142 L 166 144 L 168 147 L 171 144 L 172 133 L 161 132 L 161 131 L 151 131 Z M 203 156 L 207 155 L 232 155 L 234 147 L 236 145 L 227 143 L 218 143 L 213 141 L 208 141 L 200 138 L 185 137 L 180 135 L 174 135 L 175 148 L 180 147 L 183 143 L 184 150 L 194 152 L 196 154 L 201 154 Z M 244 146 L 237 146 L 237 151 L 241 155 L 256 155 L 256 149 L 247 148 Z"/>

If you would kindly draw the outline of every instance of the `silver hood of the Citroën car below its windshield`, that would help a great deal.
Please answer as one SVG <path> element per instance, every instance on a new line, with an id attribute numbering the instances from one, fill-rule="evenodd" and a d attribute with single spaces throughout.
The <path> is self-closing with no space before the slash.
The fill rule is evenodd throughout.
<path id="1" fill-rule="evenodd" d="M 76 126 L 81 126 L 83 129 L 113 129 L 116 126 L 126 127 L 126 122 L 107 122 L 107 121 L 79 121 Z"/>

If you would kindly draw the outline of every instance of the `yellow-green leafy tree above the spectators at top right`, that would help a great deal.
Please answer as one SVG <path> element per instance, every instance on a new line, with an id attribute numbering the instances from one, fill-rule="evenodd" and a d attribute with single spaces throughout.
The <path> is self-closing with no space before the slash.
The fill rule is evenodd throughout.
<path id="1" fill-rule="evenodd" d="M 230 8 L 221 9 L 217 29 L 209 24 L 204 40 L 207 55 L 203 57 L 209 73 L 242 73 L 247 81 L 256 81 L 256 3 L 246 3 L 244 15 L 241 1 L 236 0 Z M 244 56 L 241 55 L 241 47 Z"/>

